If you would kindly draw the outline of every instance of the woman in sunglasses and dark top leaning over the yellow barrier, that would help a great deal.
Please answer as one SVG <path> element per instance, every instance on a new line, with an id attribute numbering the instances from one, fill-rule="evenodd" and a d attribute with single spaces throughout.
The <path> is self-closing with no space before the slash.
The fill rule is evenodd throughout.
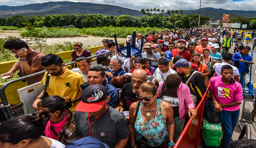
<path id="1" fill-rule="evenodd" d="M 74 51 L 71 53 L 71 61 L 70 62 L 76 61 L 76 59 L 78 57 L 90 57 L 91 56 L 91 53 L 89 51 L 83 49 L 82 43 L 79 43 L 79 42 L 73 43 L 73 49 L 74 49 Z M 92 58 L 90 58 L 88 60 L 91 63 L 93 62 Z M 71 64 L 70 69 L 72 69 L 73 67 L 74 67 L 74 64 Z M 75 64 L 75 67 L 77 68 L 76 64 Z"/>

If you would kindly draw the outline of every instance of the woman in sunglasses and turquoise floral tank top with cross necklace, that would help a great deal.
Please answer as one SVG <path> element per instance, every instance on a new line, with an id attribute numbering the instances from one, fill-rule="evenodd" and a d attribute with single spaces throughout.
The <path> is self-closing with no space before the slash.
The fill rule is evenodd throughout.
<path id="1" fill-rule="evenodd" d="M 140 85 L 137 98 L 140 101 L 130 106 L 130 140 L 131 146 L 146 148 L 173 148 L 174 120 L 169 103 L 156 99 L 158 82 L 147 82 Z M 156 83 L 156 84 L 155 84 Z M 137 141 L 135 140 L 137 139 Z"/>

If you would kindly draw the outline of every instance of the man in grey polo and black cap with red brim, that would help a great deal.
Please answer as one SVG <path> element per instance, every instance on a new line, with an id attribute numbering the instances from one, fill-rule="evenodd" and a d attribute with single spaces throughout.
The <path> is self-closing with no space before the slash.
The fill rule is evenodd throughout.
<path id="1" fill-rule="evenodd" d="M 92 136 L 110 148 L 124 148 L 130 134 L 128 123 L 121 112 L 106 104 L 109 100 L 103 85 L 89 85 L 82 91 L 74 113 L 78 139 Z"/>

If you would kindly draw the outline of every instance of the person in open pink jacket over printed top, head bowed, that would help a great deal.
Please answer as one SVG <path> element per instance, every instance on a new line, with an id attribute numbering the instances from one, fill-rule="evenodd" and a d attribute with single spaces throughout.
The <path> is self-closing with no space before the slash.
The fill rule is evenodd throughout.
<path id="1" fill-rule="evenodd" d="M 174 119 L 174 141 L 180 137 L 185 124 L 185 115 L 188 109 L 189 117 L 195 118 L 197 112 L 192 101 L 190 90 L 181 82 L 177 74 L 170 74 L 166 80 L 159 83 L 158 97 L 170 104 Z"/>

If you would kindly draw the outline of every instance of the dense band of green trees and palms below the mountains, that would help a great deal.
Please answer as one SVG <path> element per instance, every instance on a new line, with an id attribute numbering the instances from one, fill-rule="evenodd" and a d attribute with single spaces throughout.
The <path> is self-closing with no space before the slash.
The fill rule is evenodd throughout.
<path id="1" fill-rule="evenodd" d="M 24 28 L 26 23 L 35 26 L 36 28 L 47 27 L 60 27 L 69 28 L 65 30 L 66 34 L 61 35 L 45 35 L 45 36 L 79 36 L 78 32 L 74 32 L 72 28 L 98 28 L 98 27 L 173 27 L 174 28 L 190 28 L 196 27 L 198 21 L 198 15 L 183 15 L 183 11 L 180 10 L 168 10 L 166 13 L 168 16 L 164 16 L 164 10 L 160 9 L 142 9 L 144 16 L 134 17 L 129 15 L 122 16 L 104 16 L 102 14 L 60 14 L 60 15 L 46 15 L 42 16 L 21 16 L 15 15 L 8 19 L 0 18 L 0 26 L 14 26 L 18 28 Z M 154 11 L 154 13 L 153 13 Z M 197 20 L 195 20 L 197 19 Z M 177 22 L 181 20 L 183 23 Z M 210 18 L 201 16 L 200 24 L 206 24 Z M 172 26 L 170 23 L 174 24 Z M 24 32 L 25 33 L 25 32 Z M 42 32 L 43 34 L 43 32 Z"/>

